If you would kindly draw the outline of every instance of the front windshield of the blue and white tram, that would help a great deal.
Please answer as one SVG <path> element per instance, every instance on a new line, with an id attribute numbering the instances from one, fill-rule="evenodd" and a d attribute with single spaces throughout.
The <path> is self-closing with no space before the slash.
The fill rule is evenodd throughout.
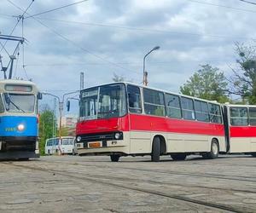
<path id="1" fill-rule="evenodd" d="M 35 95 L 3 94 L 4 105 L 8 112 L 32 113 L 35 109 Z"/>

